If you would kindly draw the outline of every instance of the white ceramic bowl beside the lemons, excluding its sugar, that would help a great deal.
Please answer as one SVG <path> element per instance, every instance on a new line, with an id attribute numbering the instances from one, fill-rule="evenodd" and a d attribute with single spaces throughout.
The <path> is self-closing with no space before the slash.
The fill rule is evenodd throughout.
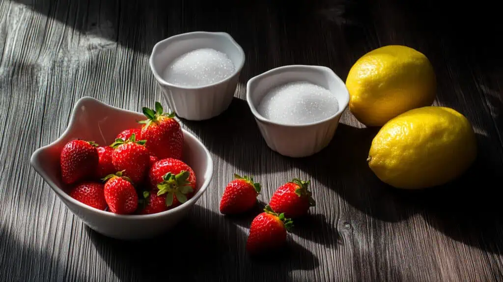
<path id="1" fill-rule="evenodd" d="M 293 81 L 309 81 L 323 86 L 336 96 L 339 111 L 319 122 L 287 125 L 261 116 L 257 107 L 268 90 Z M 336 132 L 342 113 L 349 104 L 349 91 L 344 81 L 330 68 L 312 65 L 288 65 L 271 69 L 248 80 L 246 101 L 255 116 L 267 145 L 289 157 L 305 157 L 325 148 Z"/>

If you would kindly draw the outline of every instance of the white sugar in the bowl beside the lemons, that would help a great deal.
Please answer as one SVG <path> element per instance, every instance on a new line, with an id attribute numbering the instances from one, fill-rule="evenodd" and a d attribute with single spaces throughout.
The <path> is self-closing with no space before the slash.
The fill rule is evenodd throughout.
<path id="1" fill-rule="evenodd" d="M 271 89 L 257 111 L 264 118 L 283 124 L 306 124 L 324 120 L 339 110 L 328 89 L 307 81 L 295 81 Z"/>

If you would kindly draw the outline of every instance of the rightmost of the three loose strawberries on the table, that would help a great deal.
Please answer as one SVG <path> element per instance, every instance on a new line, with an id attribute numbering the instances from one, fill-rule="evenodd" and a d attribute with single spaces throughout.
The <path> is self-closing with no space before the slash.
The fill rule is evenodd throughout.
<path id="1" fill-rule="evenodd" d="M 284 213 L 289 218 L 307 214 L 309 207 L 315 206 L 311 192 L 307 190 L 308 185 L 309 181 L 293 178 L 274 192 L 269 205 L 275 212 Z"/>

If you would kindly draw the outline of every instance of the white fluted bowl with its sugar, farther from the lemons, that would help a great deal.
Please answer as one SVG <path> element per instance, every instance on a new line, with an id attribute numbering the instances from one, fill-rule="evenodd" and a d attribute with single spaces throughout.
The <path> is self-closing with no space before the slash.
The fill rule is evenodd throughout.
<path id="1" fill-rule="evenodd" d="M 150 69 L 178 117 L 207 120 L 230 103 L 244 65 L 244 52 L 224 32 L 189 32 L 155 44 Z"/>

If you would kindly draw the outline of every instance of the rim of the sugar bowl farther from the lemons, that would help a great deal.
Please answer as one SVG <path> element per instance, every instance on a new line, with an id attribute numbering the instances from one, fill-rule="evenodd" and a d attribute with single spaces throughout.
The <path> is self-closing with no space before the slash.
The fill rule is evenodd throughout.
<path id="1" fill-rule="evenodd" d="M 176 41 L 176 40 L 185 40 L 187 37 L 197 37 L 197 36 L 209 36 L 209 37 L 214 37 L 214 38 L 225 38 L 225 40 L 228 40 L 234 47 L 236 47 L 239 55 L 241 56 L 241 63 L 237 66 L 235 66 L 234 72 L 224 78 L 223 80 L 208 84 L 208 85 L 202 85 L 202 86 L 182 86 L 182 85 L 176 85 L 170 82 L 167 82 L 162 78 L 161 75 L 157 72 L 157 70 L 154 67 L 154 56 L 157 54 L 157 49 L 159 49 L 159 45 L 165 43 L 165 42 L 170 42 L 170 41 Z M 230 36 L 230 34 L 226 32 L 209 32 L 209 31 L 194 31 L 194 32 L 186 32 L 186 33 L 181 33 L 177 34 L 168 38 L 165 38 L 163 40 L 158 41 L 155 43 L 154 47 L 152 48 L 152 52 L 150 53 L 150 57 L 148 59 L 148 65 L 150 67 L 150 71 L 152 72 L 153 76 L 155 77 L 155 80 L 163 86 L 168 86 L 168 87 L 173 87 L 173 88 L 178 88 L 178 89 L 185 89 L 185 90 L 198 90 L 198 89 L 205 89 L 208 87 L 213 87 L 215 85 L 219 85 L 222 83 L 226 83 L 229 80 L 233 79 L 239 72 L 242 70 L 244 66 L 244 62 L 246 60 L 246 56 L 244 55 L 243 48 L 237 44 L 237 42 Z"/>

